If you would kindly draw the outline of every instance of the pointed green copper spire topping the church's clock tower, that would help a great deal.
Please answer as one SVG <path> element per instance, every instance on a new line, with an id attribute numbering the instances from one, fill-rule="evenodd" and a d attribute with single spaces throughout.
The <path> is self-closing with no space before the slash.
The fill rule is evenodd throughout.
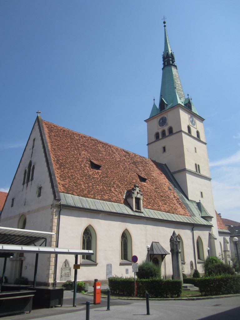
<path id="1" fill-rule="evenodd" d="M 154 103 L 150 117 L 180 104 L 197 114 L 192 101 L 185 98 L 180 78 L 178 75 L 175 57 L 169 44 L 166 22 L 164 20 L 164 52 L 163 52 L 163 74 L 160 92 L 159 107 Z"/>

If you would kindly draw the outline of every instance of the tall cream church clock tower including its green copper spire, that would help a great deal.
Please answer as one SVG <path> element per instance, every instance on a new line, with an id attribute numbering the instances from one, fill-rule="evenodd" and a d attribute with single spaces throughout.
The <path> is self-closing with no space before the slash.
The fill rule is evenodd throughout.
<path id="1" fill-rule="evenodd" d="M 167 164 L 190 200 L 201 201 L 215 216 L 204 118 L 189 95 L 185 97 L 164 21 L 162 84 L 147 120 L 148 158 Z"/>

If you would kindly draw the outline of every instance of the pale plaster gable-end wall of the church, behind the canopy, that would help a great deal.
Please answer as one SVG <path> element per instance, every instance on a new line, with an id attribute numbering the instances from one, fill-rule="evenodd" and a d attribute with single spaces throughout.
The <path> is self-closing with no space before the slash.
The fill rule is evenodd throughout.
<path id="1" fill-rule="evenodd" d="M 35 144 L 32 149 L 34 138 Z M 34 179 L 29 181 L 28 184 L 22 185 L 24 170 L 28 169 L 30 160 L 32 160 L 32 165 L 35 165 Z M 42 187 L 42 195 L 37 197 L 38 187 L 40 186 Z M 12 198 L 14 198 L 13 207 L 11 207 Z M 52 232 L 50 221 L 52 203 L 52 188 L 40 133 L 35 123 L 2 211 L 1 226 L 18 228 L 19 218 L 22 214 L 25 214 L 27 218 L 25 229 Z M 37 281 L 46 281 L 48 256 L 47 254 L 39 254 Z M 24 254 L 24 257 L 26 259 L 23 261 L 22 276 L 33 280 L 35 254 Z M 7 260 L 6 276 L 8 276 L 9 281 L 14 281 L 9 274 L 12 263 L 14 262 Z"/>

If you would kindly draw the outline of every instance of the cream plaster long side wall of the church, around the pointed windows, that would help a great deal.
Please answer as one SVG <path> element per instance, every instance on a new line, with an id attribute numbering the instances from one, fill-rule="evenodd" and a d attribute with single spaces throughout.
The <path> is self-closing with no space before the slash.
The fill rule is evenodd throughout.
<path id="1" fill-rule="evenodd" d="M 132 255 L 138 256 L 138 262 L 147 257 L 146 245 L 153 241 L 159 242 L 165 250 L 170 253 L 170 237 L 175 230 L 180 234 L 185 253 L 184 273 L 190 273 L 190 261 L 194 263 L 192 226 L 175 224 L 170 222 L 161 222 L 157 220 L 147 220 L 132 217 L 124 217 L 119 215 L 100 214 L 96 212 L 84 212 L 74 209 L 63 208 L 60 220 L 60 247 L 81 248 L 82 232 L 91 225 L 97 235 L 97 265 L 81 265 L 78 270 L 78 280 L 106 279 L 106 265 L 112 264 L 112 275 L 133 276 L 132 263 L 129 265 L 121 265 L 120 241 L 122 232 L 127 228 L 132 237 Z M 201 235 L 204 248 L 207 248 L 208 232 L 211 228 L 195 227 L 195 242 L 198 235 Z M 205 250 L 207 254 L 207 250 Z M 60 280 L 60 269 L 62 263 L 68 259 L 71 264 L 71 276 L 73 279 L 73 264 L 75 258 L 73 256 L 59 255 L 58 257 L 58 274 L 57 279 Z M 171 254 L 166 256 L 167 276 L 172 276 L 172 260 Z M 78 260 L 78 262 L 80 259 Z M 126 274 L 126 268 L 129 273 Z M 200 264 L 198 264 L 199 271 Z M 162 266 L 162 275 L 163 266 Z"/>

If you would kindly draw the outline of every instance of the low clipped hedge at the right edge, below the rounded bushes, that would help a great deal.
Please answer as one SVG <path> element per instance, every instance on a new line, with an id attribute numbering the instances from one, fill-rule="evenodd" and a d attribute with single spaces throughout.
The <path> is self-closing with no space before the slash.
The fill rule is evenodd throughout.
<path id="1" fill-rule="evenodd" d="M 198 279 L 199 291 L 204 296 L 240 293 L 240 276 L 220 275 Z"/>

